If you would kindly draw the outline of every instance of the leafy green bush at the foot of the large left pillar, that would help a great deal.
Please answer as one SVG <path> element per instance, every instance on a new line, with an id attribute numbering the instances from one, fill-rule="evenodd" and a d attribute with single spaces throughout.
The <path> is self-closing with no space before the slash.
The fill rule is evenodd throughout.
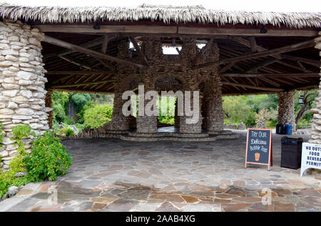
<path id="1" fill-rule="evenodd" d="M 58 176 L 66 174 L 71 166 L 71 154 L 52 131 L 37 136 L 32 143 L 31 154 L 24 158 L 26 170 L 31 181 L 55 181 Z"/>

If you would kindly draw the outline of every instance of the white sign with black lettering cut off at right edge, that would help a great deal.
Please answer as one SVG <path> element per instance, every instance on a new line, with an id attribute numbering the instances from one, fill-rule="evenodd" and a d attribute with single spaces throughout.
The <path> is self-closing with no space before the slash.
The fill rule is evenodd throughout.
<path id="1" fill-rule="evenodd" d="M 302 143 L 301 176 L 308 168 L 321 169 L 321 144 Z"/>

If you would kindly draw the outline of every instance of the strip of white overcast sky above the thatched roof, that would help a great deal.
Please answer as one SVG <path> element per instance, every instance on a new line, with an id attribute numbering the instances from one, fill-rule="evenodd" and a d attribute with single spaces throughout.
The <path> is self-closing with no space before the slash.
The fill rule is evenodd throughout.
<path id="1" fill-rule="evenodd" d="M 0 0 L 3 2 L 2 0 Z M 320 0 L 6 0 L 11 4 L 30 6 L 139 6 L 146 4 L 163 5 L 203 5 L 207 9 L 317 12 L 321 11 Z"/>

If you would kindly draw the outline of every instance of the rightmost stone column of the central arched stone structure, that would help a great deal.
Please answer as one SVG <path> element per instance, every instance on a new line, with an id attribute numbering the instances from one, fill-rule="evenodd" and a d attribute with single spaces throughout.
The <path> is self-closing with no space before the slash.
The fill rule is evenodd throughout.
<path id="1" fill-rule="evenodd" d="M 224 112 L 222 105 L 222 83 L 219 75 L 214 75 L 205 83 L 204 121 L 208 131 L 222 131 Z"/>

